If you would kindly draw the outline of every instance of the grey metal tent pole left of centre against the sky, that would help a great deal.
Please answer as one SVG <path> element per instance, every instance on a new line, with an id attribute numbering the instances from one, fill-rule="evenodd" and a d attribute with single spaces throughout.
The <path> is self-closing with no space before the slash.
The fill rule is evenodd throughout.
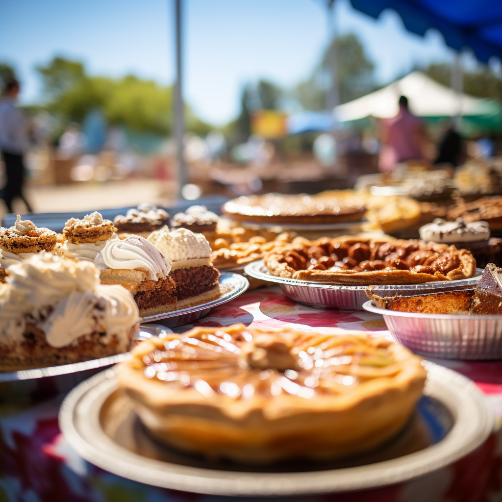
<path id="1" fill-rule="evenodd" d="M 182 41 L 181 41 L 181 0 L 175 0 L 175 24 L 176 24 L 176 82 L 174 84 L 174 132 L 176 137 L 176 152 L 178 157 L 178 198 L 181 198 L 181 189 L 186 183 L 185 156 L 183 136 L 185 134 L 185 116 L 183 109 L 182 94 Z"/>

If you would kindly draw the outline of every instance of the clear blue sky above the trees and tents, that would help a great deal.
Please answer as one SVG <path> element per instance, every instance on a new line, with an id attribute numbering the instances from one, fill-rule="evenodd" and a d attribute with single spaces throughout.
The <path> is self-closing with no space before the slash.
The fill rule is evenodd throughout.
<path id="1" fill-rule="evenodd" d="M 245 82 L 293 86 L 307 77 L 328 41 L 323 0 L 184 1 L 185 96 L 215 124 L 237 114 Z M 339 33 L 361 39 L 381 83 L 453 57 L 439 33 L 410 34 L 393 11 L 375 21 L 338 0 L 335 19 Z M 173 29 L 172 0 L 0 0 L 0 61 L 18 70 L 25 103 L 40 90 L 34 67 L 56 54 L 83 61 L 91 74 L 171 83 Z"/>

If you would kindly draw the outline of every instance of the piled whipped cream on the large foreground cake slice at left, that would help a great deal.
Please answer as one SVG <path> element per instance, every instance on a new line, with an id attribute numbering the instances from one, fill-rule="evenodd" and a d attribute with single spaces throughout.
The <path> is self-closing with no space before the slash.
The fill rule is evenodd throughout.
<path id="1" fill-rule="evenodd" d="M 99 284 L 99 271 L 86 261 L 42 252 L 9 269 L 0 288 L 0 336 L 23 340 L 27 318 L 42 329 L 47 343 L 64 347 L 83 335 L 117 335 L 127 344 L 139 311 L 121 286 Z M 127 347 L 124 345 L 124 350 Z"/>

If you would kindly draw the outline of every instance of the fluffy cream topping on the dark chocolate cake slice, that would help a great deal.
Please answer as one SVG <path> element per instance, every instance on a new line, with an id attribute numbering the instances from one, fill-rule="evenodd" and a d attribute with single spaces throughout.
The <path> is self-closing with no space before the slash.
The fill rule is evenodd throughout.
<path id="1" fill-rule="evenodd" d="M 164 253 L 172 262 L 209 258 L 211 246 L 201 233 L 186 228 L 169 231 L 166 228 L 155 230 L 148 240 Z"/>

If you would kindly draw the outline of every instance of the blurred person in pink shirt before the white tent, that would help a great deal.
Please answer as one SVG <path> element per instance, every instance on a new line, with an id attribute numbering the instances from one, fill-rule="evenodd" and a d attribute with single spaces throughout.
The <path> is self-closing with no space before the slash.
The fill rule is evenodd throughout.
<path id="1" fill-rule="evenodd" d="M 382 148 L 379 169 L 394 171 L 396 164 L 409 160 L 426 160 L 424 149 L 427 136 L 422 120 L 408 109 L 408 98 L 399 98 L 399 112 L 393 118 L 383 119 Z"/>

